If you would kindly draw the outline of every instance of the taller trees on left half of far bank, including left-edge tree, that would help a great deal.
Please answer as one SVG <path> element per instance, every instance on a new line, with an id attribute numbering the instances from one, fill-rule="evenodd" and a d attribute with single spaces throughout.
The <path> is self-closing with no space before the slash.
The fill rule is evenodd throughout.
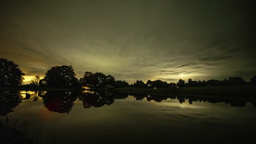
<path id="1" fill-rule="evenodd" d="M 91 73 L 85 71 L 84 76 L 79 80 L 75 77 L 71 65 L 51 67 L 46 71 L 43 79 L 36 75 L 28 85 L 22 85 L 24 73 L 19 65 L 7 59 L 0 58 L 0 87 L 21 87 L 21 88 L 90 88 L 108 87 L 129 87 L 125 81 L 116 81 L 112 75 L 102 73 Z"/>

